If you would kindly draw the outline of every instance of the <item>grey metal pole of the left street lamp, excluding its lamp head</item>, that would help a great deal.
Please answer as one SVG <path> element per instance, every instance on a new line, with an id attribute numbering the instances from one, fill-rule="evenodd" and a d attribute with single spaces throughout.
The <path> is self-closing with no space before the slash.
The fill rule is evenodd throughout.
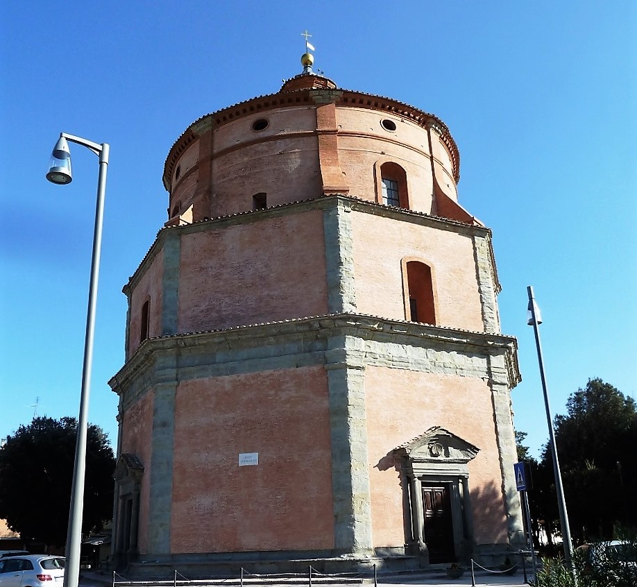
<path id="1" fill-rule="evenodd" d="M 88 144 L 85 144 L 85 146 L 92 149 L 92 147 Z M 94 149 L 92 150 L 94 151 Z M 101 151 L 99 151 L 99 177 L 97 180 L 97 202 L 95 207 L 95 226 L 93 230 L 93 254 L 91 260 L 91 278 L 86 316 L 82 391 L 80 393 L 80 415 L 78 417 L 78 437 L 75 445 L 73 484 L 71 485 L 71 507 L 69 510 L 69 527 L 65 552 L 67 562 L 65 565 L 64 587 L 77 587 L 80 580 L 80 548 L 82 545 L 82 514 L 84 509 L 84 477 L 86 473 L 88 404 L 93 364 L 93 339 L 95 332 L 97 283 L 99 280 L 99 260 L 102 244 L 108 151 L 108 144 L 102 144 Z"/>

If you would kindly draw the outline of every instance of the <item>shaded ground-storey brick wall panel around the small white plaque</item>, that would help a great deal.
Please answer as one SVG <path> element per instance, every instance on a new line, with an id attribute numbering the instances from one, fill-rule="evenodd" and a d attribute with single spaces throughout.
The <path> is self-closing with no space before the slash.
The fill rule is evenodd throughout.
<path id="1" fill-rule="evenodd" d="M 312 366 L 180 384 L 173 552 L 334 547 L 326 379 Z M 259 465 L 239 467 L 248 452 Z"/>

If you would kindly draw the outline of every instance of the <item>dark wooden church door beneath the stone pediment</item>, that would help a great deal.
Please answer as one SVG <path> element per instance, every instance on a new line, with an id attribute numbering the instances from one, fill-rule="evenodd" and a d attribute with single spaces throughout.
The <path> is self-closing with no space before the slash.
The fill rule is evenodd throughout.
<path id="1" fill-rule="evenodd" d="M 455 561 L 449 485 L 423 482 L 423 506 L 423 537 L 429 549 L 430 563 Z"/>

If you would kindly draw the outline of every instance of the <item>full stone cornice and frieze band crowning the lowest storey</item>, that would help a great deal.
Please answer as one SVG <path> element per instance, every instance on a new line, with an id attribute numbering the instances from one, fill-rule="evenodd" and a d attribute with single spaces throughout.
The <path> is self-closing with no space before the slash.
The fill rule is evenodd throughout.
<path id="1" fill-rule="evenodd" d="M 246 361 L 253 362 L 252 370 L 259 364 L 266 366 L 264 360 L 271 362 L 269 368 L 327 364 L 329 354 L 341 355 L 353 367 L 377 363 L 428 371 L 431 364 L 444 373 L 498 375 L 511 388 L 520 380 L 516 351 L 516 339 L 502 334 L 344 312 L 148 339 L 109 385 L 116 393 L 126 393 L 133 386 L 157 383 L 164 368 L 182 373 L 189 369 L 192 376 L 209 368 L 209 375 L 223 375 L 223 366 L 228 373 L 237 373 Z M 155 372 L 152 380 L 151 372 Z"/>

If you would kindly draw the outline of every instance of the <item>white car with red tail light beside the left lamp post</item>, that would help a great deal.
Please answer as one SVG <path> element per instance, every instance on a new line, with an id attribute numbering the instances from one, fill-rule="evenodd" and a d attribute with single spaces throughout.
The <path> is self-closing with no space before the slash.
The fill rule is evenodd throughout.
<path id="1" fill-rule="evenodd" d="M 0 587 L 54 587 L 64 581 L 64 556 L 25 554 L 0 559 Z"/>

